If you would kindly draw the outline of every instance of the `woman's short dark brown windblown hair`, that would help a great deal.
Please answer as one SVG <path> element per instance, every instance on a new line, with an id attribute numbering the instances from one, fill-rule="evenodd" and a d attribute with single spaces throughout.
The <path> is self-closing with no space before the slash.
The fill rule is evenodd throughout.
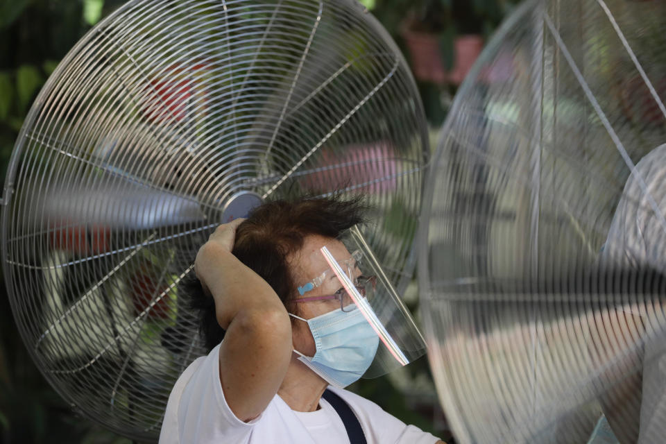
<path id="1" fill-rule="evenodd" d="M 302 247 L 307 236 L 335 238 L 363 222 L 366 207 L 362 200 L 360 195 L 349 200 L 334 195 L 274 200 L 259 205 L 238 226 L 232 253 L 268 282 L 287 310 L 293 312 L 296 285 L 287 257 Z M 224 330 L 217 323 L 214 300 L 203 292 L 194 277 L 185 280 L 181 288 L 189 294 L 190 307 L 198 312 L 205 348 L 212 350 L 224 337 Z"/>

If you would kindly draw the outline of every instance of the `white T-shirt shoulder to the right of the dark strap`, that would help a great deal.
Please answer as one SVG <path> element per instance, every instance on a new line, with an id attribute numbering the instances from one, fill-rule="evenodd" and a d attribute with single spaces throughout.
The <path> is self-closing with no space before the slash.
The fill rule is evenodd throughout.
<path id="1" fill-rule="evenodd" d="M 439 441 L 436 436 L 423 432 L 414 425 L 407 425 L 386 413 L 374 402 L 347 390 L 329 388 L 343 398 L 356 413 L 368 444 L 433 444 Z"/>

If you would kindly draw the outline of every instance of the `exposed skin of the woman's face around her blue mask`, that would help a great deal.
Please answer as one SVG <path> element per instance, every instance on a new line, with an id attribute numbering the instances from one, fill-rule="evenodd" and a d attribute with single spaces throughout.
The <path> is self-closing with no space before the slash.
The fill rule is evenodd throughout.
<path id="1" fill-rule="evenodd" d="M 290 260 L 296 285 L 305 284 L 330 269 L 324 256 L 318 254 L 320 248 L 323 246 L 328 248 L 338 262 L 343 262 L 352 257 L 349 250 L 347 250 L 341 241 L 322 236 L 306 237 L 303 247 Z M 357 273 L 360 274 L 360 271 L 357 270 Z M 334 273 L 329 274 L 327 274 L 320 286 L 308 291 L 303 297 L 330 295 L 338 291 L 342 287 L 340 281 Z M 294 314 L 304 319 L 310 319 L 339 308 L 340 302 L 336 299 L 300 302 L 296 304 L 296 313 Z M 316 347 L 307 323 L 296 320 L 291 325 L 294 348 L 304 355 L 313 356 L 316 352 Z"/>

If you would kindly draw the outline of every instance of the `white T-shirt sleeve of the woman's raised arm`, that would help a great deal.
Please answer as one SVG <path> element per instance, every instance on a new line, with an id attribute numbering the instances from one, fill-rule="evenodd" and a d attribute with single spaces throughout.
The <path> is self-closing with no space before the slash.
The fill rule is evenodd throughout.
<path id="1" fill-rule="evenodd" d="M 198 368 L 189 371 L 188 367 L 176 382 L 164 415 L 160 444 L 248 441 L 262 415 L 243 422 L 231 411 L 220 383 L 219 350 L 217 345 L 205 358 L 195 361 L 191 366 L 197 364 Z"/>

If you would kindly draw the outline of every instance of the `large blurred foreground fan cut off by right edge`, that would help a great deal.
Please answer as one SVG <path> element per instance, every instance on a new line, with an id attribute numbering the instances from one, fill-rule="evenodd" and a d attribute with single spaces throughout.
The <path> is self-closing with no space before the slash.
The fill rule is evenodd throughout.
<path id="1" fill-rule="evenodd" d="M 665 99 L 663 1 L 527 1 L 470 71 L 419 241 L 458 442 L 663 442 Z"/>

